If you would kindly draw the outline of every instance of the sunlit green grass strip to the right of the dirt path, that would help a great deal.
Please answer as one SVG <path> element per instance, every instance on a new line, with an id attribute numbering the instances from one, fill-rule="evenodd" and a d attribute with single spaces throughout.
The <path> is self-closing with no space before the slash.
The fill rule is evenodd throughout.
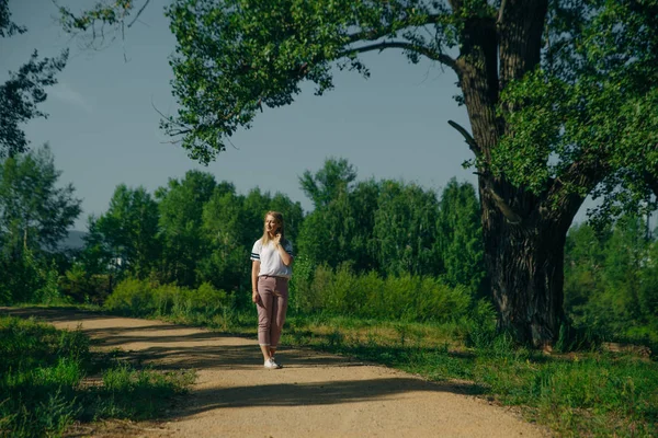
<path id="1" fill-rule="evenodd" d="M 557 436 L 658 435 L 658 364 L 600 349 L 547 356 L 506 336 L 466 347 L 456 324 L 291 318 L 282 343 L 383 364 L 520 406 Z"/>

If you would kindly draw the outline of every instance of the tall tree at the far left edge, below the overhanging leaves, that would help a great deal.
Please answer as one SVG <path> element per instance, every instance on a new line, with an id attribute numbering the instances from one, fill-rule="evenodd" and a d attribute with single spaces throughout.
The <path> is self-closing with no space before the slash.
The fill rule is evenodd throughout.
<path id="1" fill-rule="evenodd" d="M 47 146 L 0 159 L 0 302 L 53 289 L 54 253 L 81 203 L 71 184 L 57 186 L 60 175 Z"/>

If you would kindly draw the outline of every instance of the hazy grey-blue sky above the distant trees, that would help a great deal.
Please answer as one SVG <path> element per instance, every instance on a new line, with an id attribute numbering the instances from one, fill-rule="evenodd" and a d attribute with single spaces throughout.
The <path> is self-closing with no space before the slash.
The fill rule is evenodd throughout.
<path id="1" fill-rule="evenodd" d="M 95 3 L 95 2 L 93 2 Z M 41 110 L 47 119 L 24 126 L 32 148 L 48 142 L 60 183 L 71 183 L 82 199 L 73 229 L 84 231 L 89 215 L 101 215 L 118 184 L 144 186 L 150 193 L 192 169 L 212 173 L 247 194 L 260 187 L 311 204 L 299 188 L 306 170 L 319 170 L 326 158 L 344 158 L 359 180 L 374 177 L 417 183 L 439 193 L 452 177 L 476 184 L 472 158 L 452 119 L 469 129 L 466 108 L 453 96 L 456 76 L 435 62 L 411 65 L 399 50 L 366 54 L 371 70 L 337 72 L 336 89 L 322 96 L 304 87 L 292 105 L 264 108 L 249 130 L 240 130 L 216 161 L 204 166 L 172 145 L 158 127 L 160 115 L 173 114 L 173 73 L 168 64 L 175 39 L 163 14 L 168 0 L 151 0 L 125 38 L 105 48 L 84 48 L 57 23 L 53 0 L 10 0 L 12 20 L 27 33 L 0 38 L 0 81 L 9 78 L 37 49 L 57 56 L 70 49 L 69 61 L 49 88 Z M 89 0 L 60 0 L 73 11 Z M 138 4 L 141 4 L 139 2 Z"/>

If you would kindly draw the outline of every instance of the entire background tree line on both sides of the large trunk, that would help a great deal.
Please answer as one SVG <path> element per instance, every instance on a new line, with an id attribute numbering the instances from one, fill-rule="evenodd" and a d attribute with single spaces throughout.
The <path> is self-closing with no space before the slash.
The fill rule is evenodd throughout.
<path id="1" fill-rule="evenodd" d="M 330 158 L 299 177 L 314 205 L 305 212 L 285 194 L 258 187 L 239 194 L 230 182 L 189 171 L 152 194 L 117 185 L 107 210 L 89 217 L 84 246 L 71 251 L 60 242 L 80 215 L 80 200 L 70 184 L 58 187 L 59 176 L 47 146 L 0 160 L 3 304 L 63 296 L 102 303 L 122 280 L 136 279 L 189 289 L 209 285 L 231 296 L 237 308 L 247 308 L 249 252 L 262 234 L 268 210 L 284 214 L 286 234 L 295 244 L 296 286 L 306 306 L 299 301 L 297 309 L 321 311 L 329 306 L 318 289 L 326 278 L 314 278 L 316 273 L 336 273 L 353 286 L 389 278 L 381 285 L 392 297 L 397 293 L 395 278 L 408 278 L 397 283 L 405 293 L 431 278 L 424 284 L 460 288 L 472 302 L 490 299 L 477 195 L 473 185 L 454 178 L 441 194 L 401 181 L 358 181 L 353 165 Z M 614 223 L 595 224 L 577 224 L 567 237 L 569 319 L 609 337 L 654 339 L 658 245 L 649 218 L 626 215 Z M 359 291 L 340 287 L 344 303 L 331 308 L 347 311 L 350 295 Z M 423 310 L 422 318 L 431 313 Z"/>

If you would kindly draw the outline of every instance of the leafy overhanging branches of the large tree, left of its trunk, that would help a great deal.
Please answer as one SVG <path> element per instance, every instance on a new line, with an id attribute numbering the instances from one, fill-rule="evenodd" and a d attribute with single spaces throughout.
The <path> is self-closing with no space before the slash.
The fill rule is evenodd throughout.
<path id="1" fill-rule="evenodd" d="M 358 58 L 366 50 L 354 42 L 398 37 L 411 61 L 439 57 L 442 33 L 428 38 L 413 27 L 443 30 L 446 10 L 422 1 L 173 1 L 167 15 L 178 42 L 171 65 L 181 110 L 161 126 L 183 136 L 192 158 L 208 162 L 257 111 L 292 103 L 302 81 L 315 82 L 318 94 L 331 89 L 333 61 L 344 57 L 339 68 L 367 76 Z"/>

